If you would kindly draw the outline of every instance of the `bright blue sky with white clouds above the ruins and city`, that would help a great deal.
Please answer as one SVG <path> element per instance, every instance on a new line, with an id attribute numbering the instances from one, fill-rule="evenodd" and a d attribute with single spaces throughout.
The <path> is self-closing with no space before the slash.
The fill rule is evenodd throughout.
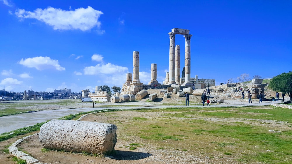
<path id="1" fill-rule="evenodd" d="M 227 82 L 291 71 L 292 1 L 0 0 L 0 90 L 122 86 L 140 52 L 140 80 L 169 69 L 169 35 L 189 29 L 191 77 Z M 176 35 L 184 66 L 185 38 Z"/>

